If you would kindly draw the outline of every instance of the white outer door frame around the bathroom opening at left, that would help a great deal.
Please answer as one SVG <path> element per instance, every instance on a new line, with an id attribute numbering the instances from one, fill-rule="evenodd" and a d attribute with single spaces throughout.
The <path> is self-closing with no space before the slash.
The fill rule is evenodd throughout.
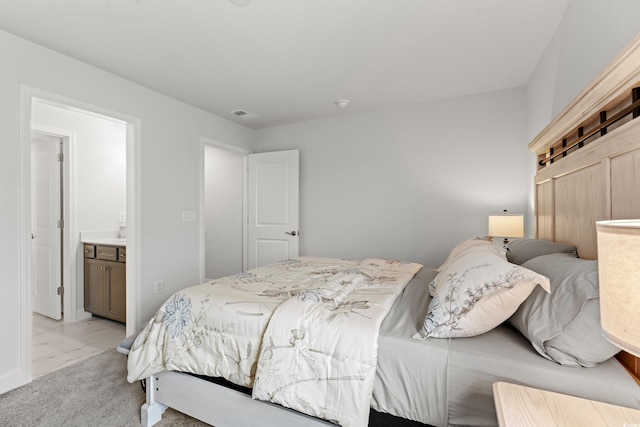
<path id="1" fill-rule="evenodd" d="M 122 120 L 127 123 L 127 336 L 141 325 L 141 119 L 77 99 L 48 92 L 25 84 L 20 85 L 20 312 L 19 321 L 21 370 L 24 383 L 32 380 L 31 337 L 32 277 L 31 277 L 31 105 L 34 100 L 59 108 L 82 110 Z M 73 180 L 73 177 L 71 177 Z M 69 224 L 72 227 L 72 224 Z M 77 230 L 75 235 L 77 235 Z M 77 237 L 79 240 L 79 236 Z M 70 245 L 72 242 L 69 242 Z M 72 259 L 75 259 L 73 254 Z M 77 283 L 76 283 L 77 284 Z M 73 307 L 75 309 L 75 306 Z"/>

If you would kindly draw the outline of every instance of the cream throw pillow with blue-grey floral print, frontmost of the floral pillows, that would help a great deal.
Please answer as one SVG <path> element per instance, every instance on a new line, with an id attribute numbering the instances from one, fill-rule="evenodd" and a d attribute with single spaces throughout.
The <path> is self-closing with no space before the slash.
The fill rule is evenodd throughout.
<path id="1" fill-rule="evenodd" d="M 424 325 L 413 337 L 470 337 L 511 316 L 536 285 L 549 280 L 481 248 L 467 249 L 435 278 Z"/>

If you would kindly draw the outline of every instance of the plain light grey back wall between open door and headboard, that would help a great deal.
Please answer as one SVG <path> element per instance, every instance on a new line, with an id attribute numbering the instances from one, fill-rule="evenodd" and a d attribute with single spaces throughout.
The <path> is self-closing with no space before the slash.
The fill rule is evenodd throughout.
<path id="1" fill-rule="evenodd" d="M 530 210 L 523 89 L 262 129 L 252 147 L 300 149 L 302 255 L 433 266 L 490 213 Z"/>

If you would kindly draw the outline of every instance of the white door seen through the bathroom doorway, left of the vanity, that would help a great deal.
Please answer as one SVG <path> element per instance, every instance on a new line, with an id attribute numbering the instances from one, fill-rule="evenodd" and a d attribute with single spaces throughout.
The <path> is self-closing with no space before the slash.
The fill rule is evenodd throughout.
<path id="1" fill-rule="evenodd" d="M 33 311 L 62 317 L 62 139 L 31 135 Z"/>

